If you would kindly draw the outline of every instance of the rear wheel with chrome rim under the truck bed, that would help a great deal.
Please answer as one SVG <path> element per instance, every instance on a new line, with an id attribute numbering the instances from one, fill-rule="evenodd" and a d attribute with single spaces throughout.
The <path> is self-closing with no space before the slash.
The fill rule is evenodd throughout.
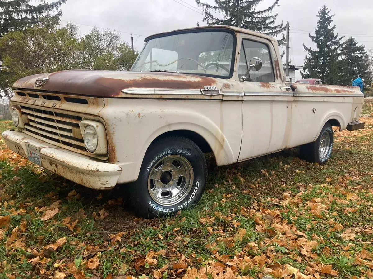
<path id="1" fill-rule="evenodd" d="M 300 147 L 300 157 L 310 163 L 325 164 L 332 154 L 333 128 L 326 123 L 316 141 Z"/>

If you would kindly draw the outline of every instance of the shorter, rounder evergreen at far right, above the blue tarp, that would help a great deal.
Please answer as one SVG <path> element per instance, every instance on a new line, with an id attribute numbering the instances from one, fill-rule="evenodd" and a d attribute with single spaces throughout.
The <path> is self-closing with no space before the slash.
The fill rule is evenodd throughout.
<path id="1" fill-rule="evenodd" d="M 372 71 L 369 67 L 369 57 L 363 45 L 358 45 L 355 38 L 348 38 L 341 47 L 339 62 L 340 85 L 351 86 L 352 81 L 361 77 L 364 84 L 372 83 Z"/>

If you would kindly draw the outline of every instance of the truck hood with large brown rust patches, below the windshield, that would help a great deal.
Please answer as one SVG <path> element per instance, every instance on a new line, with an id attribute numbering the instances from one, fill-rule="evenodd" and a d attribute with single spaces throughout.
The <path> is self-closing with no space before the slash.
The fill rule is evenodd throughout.
<path id="1" fill-rule="evenodd" d="M 37 78 L 49 80 L 43 86 L 35 86 Z M 37 74 L 21 78 L 13 84 L 14 89 L 36 89 L 97 97 L 121 97 L 122 90 L 129 88 L 202 89 L 216 86 L 229 89 L 228 80 L 178 73 L 141 73 L 125 71 L 68 70 L 56 73 Z"/>

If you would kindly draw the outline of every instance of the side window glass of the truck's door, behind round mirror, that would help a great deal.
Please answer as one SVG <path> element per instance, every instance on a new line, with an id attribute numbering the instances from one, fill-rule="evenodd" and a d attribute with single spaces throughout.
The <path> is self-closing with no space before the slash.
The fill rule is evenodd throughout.
<path id="1" fill-rule="evenodd" d="M 241 52 L 239 57 L 238 76 L 244 76 L 250 65 L 251 58 L 258 57 L 263 62 L 263 66 L 259 71 L 251 70 L 247 80 L 256 82 L 274 82 L 275 73 L 273 72 L 272 59 L 269 47 L 266 44 L 250 41 L 248 39 L 242 40 Z"/>

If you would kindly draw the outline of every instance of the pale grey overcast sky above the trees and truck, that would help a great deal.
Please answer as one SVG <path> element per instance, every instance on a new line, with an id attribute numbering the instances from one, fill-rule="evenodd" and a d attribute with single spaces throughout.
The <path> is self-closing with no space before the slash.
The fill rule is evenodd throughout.
<path id="1" fill-rule="evenodd" d="M 213 3 L 214 0 L 205 2 Z M 260 7 L 268 7 L 272 3 L 273 0 L 264 0 Z M 323 4 L 332 9 L 339 35 L 345 38 L 354 36 L 366 49 L 373 48 L 372 0 L 279 0 L 279 4 L 274 13 L 278 13 L 278 22 L 290 22 L 290 59 L 293 65 L 303 65 L 303 43 L 312 45 L 308 31 L 314 32 L 318 19 L 316 15 Z M 84 25 L 122 31 L 123 40 L 129 43 L 131 35 L 128 33 L 137 34 L 133 35 L 134 45 L 140 51 L 145 36 L 194 27 L 197 21 L 200 25 L 206 25 L 198 9 L 201 7 L 197 6 L 195 0 L 67 0 L 62 6 L 62 24 L 80 24 L 82 33 L 91 29 Z M 297 72 L 297 77 L 300 77 Z"/>

